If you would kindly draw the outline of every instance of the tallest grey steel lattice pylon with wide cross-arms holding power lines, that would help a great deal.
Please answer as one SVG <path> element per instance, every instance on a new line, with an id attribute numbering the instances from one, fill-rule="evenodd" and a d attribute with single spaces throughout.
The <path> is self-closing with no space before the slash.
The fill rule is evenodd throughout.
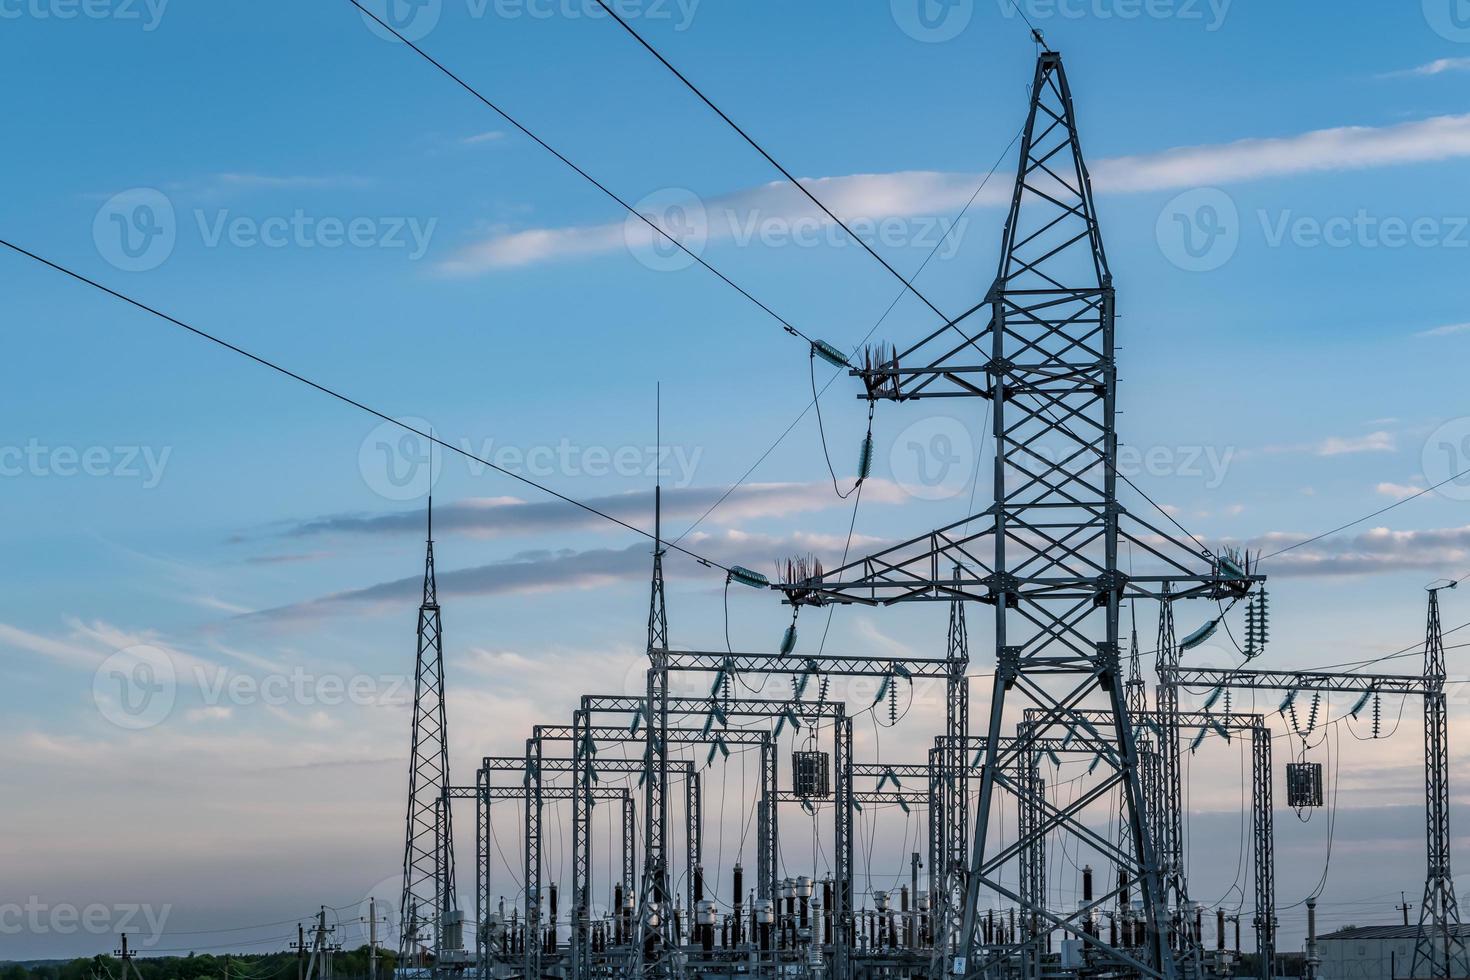
<path id="1" fill-rule="evenodd" d="M 966 325 L 986 310 L 983 328 Z M 1061 932 L 1104 964 L 1173 977 L 1169 911 L 1125 704 L 1119 610 L 1130 599 L 1166 595 L 1236 598 L 1258 576 L 1182 530 L 1175 535 L 1126 511 L 1117 500 L 1114 288 L 1057 51 L 1044 50 L 1036 60 L 1000 269 L 985 300 L 906 351 L 870 354 L 854 375 L 867 398 L 972 397 L 991 404 L 989 510 L 782 586 L 792 602 L 969 599 L 995 608 L 997 671 L 953 973 L 976 976 L 1017 956 L 1035 970 L 1041 958 L 1029 954 Z M 1136 574 L 1119 567 L 1123 542 L 1132 542 L 1147 566 Z M 957 577 L 948 574 L 954 566 L 961 569 Z M 1107 705 L 1110 723 L 1097 726 L 1085 716 L 1088 699 Z M 1008 702 L 1011 711 L 1042 711 L 1041 721 L 1017 739 L 1001 735 Z M 1066 805 L 1013 776 L 1019 760 L 1058 733 L 1104 746 L 1095 782 Z M 1114 789 L 1126 815 L 1122 846 L 1088 826 L 1094 815 L 1105 821 L 1097 811 Z M 992 854 L 988 839 L 1003 805 L 998 790 L 1036 817 Z M 1066 911 L 1050 909 L 1044 889 L 1017 892 L 1028 855 L 1050 835 L 1069 835 L 1072 845 L 1097 851 L 1126 873 L 1120 879 L 1136 883 L 1148 934 L 1142 951 L 1108 946 L 1085 927 L 1122 889 L 1110 884 L 1094 902 Z M 982 889 L 1016 905 L 1036 927 L 1016 943 L 978 948 Z"/>

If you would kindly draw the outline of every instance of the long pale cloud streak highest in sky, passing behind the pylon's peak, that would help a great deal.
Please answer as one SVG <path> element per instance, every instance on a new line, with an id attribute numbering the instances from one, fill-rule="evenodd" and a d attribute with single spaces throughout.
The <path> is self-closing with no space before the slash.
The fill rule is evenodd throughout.
<path id="1" fill-rule="evenodd" d="M 1226 185 L 1263 178 L 1448 160 L 1470 156 L 1470 115 L 1435 116 L 1392 126 L 1339 126 L 1292 137 L 1248 138 L 1226 144 L 1177 147 L 1161 153 L 1111 157 L 1092 166 L 1104 194 Z M 957 212 L 975 192 L 973 173 L 906 170 L 803 178 L 801 182 L 851 220 L 914 217 Z M 1010 176 L 995 175 L 976 204 L 1010 200 Z M 814 220 L 808 201 L 786 182 L 773 182 L 703 201 L 711 242 L 750 232 L 761 220 Z M 653 244 L 642 222 L 566 228 L 498 228 L 440 264 L 451 276 L 513 269 L 548 260 L 606 254 Z"/>

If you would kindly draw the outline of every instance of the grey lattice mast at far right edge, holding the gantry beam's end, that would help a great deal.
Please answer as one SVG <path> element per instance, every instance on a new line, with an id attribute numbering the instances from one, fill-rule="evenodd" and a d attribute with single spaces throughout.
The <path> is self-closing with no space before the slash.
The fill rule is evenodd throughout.
<path id="1" fill-rule="evenodd" d="M 1439 591 L 1429 589 L 1424 626 L 1424 824 L 1429 870 L 1419 905 L 1414 965 L 1408 976 L 1436 979 L 1470 976 L 1460 904 L 1449 874 L 1449 730 L 1445 717 L 1445 639 L 1439 626 Z M 1424 973 L 1420 973 L 1420 968 Z"/>

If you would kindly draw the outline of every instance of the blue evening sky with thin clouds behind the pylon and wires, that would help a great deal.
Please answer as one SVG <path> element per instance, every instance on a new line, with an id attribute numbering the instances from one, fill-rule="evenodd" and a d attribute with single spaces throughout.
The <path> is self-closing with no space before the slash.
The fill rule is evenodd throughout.
<path id="1" fill-rule="evenodd" d="M 935 4 L 932 31 L 904 0 L 628 9 L 838 213 L 867 219 L 900 270 L 950 231 L 917 285 L 945 310 L 979 298 L 1010 154 L 960 212 L 1020 126 L 1033 60 L 1008 7 Z M 1066 57 L 1097 179 L 1135 480 L 1192 532 L 1270 551 L 1470 466 L 1470 29 L 1451 0 L 1330 18 L 1245 0 L 1026 10 Z M 431 13 L 425 50 L 625 200 L 703 213 L 701 254 L 807 334 L 851 347 L 894 301 L 878 263 L 770 187 L 779 175 L 614 24 L 570 0 Z M 662 383 L 682 532 L 810 401 L 804 342 L 704 270 L 666 269 L 613 201 L 345 0 L 26 0 L 0 4 L 0 44 L 16 94 L 6 239 L 454 445 L 509 453 L 494 458 L 560 492 L 623 495 L 607 505 L 651 523 Z M 132 225 L 129 256 L 116 222 L 140 215 L 163 225 Z M 171 930 L 356 908 L 398 861 L 394 679 L 412 670 L 422 480 L 388 478 L 397 442 L 369 416 L 19 256 L 0 276 L 7 880 L 47 907 L 168 907 L 159 949 L 232 940 Z M 908 297 L 873 336 L 932 323 Z M 844 482 L 866 423 L 853 395 L 838 379 L 822 403 Z M 879 407 L 854 548 L 966 514 L 982 419 L 929 404 Z M 938 486 L 913 455 L 935 436 L 958 467 Z M 761 569 L 798 550 L 836 563 L 851 511 L 810 416 L 751 480 L 688 542 Z M 1276 663 L 1421 636 L 1421 586 L 1470 572 L 1467 498 L 1451 485 L 1267 566 Z M 435 502 L 456 758 L 516 751 L 579 692 L 637 674 L 644 542 L 453 457 Z M 675 642 L 723 642 L 720 579 L 682 558 L 669 577 Z M 775 645 L 786 616 L 732 595 L 732 639 Z M 1448 595 L 1446 624 L 1467 619 Z M 829 644 L 925 649 L 942 629 L 932 611 L 842 610 Z M 166 651 L 179 691 L 128 730 L 94 677 L 140 644 Z M 301 674 L 306 695 L 262 695 Z M 322 677 L 366 679 L 369 696 L 326 704 Z M 926 732 L 910 727 L 861 738 L 917 757 Z M 1413 710 L 1392 742 L 1345 742 L 1338 854 L 1401 848 L 1405 870 L 1335 864 L 1329 923 L 1391 921 L 1398 889 L 1420 887 L 1417 743 Z M 1222 785 L 1194 790 L 1201 835 L 1235 826 L 1220 758 Z M 897 842 L 903 820 L 885 820 L 875 833 Z M 1326 821 L 1286 823 L 1286 860 L 1316 880 Z M 1197 874 L 1227 884 L 1230 867 L 1201 849 Z M 1283 905 L 1294 884 L 1283 873 Z M 26 929 L 13 948 L 85 954 L 110 932 Z"/>

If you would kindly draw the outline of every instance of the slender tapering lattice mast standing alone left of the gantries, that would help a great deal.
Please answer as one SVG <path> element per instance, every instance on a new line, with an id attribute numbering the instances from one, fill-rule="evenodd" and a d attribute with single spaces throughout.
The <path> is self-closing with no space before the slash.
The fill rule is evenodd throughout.
<path id="1" fill-rule="evenodd" d="M 457 908 L 450 808 L 448 727 L 444 716 L 444 644 L 434 577 L 434 498 L 429 498 L 413 671 L 413 742 L 409 757 L 409 815 L 403 840 L 400 962 L 422 967 L 438 951 L 444 914 Z"/>

